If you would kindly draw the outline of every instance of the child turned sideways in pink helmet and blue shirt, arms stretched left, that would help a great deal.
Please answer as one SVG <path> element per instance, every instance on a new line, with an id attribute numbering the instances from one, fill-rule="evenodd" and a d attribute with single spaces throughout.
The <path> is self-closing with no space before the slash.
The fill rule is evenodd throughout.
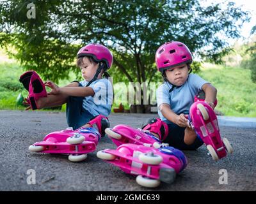
<path id="1" fill-rule="evenodd" d="M 47 97 L 36 101 L 36 108 L 59 106 L 67 103 L 67 123 L 73 129 L 90 127 L 87 124 L 98 115 L 100 120 L 108 117 L 113 101 L 113 87 L 106 72 L 111 68 L 113 55 L 103 45 L 89 44 L 77 53 L 77 66 L 81 68 L 83 81 L 74 81 L 65 87 L 58 87 L 47 81 L 45 86 L 51 88 Z M 30 109 L 31 106 L 26 108 Z M 89 122 L 90 123 L 90 122 Z"/>

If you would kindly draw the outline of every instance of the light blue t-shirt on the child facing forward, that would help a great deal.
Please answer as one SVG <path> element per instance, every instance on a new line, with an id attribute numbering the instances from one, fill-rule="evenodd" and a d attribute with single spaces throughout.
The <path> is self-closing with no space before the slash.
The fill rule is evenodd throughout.
<path id="1" fill-rule="evenodd" d="M 202 86 L 209 82 L 205 81 L 201 77 L 195 74 L 190 74 L 188 80 L 180 86 L 175 87 L 172 92 L 172 84 L 164 82 L 160 87 L 157 88 L 157 110 L 158 115 L 164 122 L 170 123 L 159 110 L 159 106 L 163 103 L 170 105 L 170 108 L 176 114 L 189 113 L 189 108 L 194 102 L 195 95 L 202 90 Z"/>

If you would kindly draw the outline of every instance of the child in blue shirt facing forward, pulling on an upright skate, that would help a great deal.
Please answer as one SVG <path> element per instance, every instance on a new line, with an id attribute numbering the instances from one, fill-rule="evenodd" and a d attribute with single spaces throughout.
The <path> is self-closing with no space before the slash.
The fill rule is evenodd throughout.
<path id="1" fill-rule="evenodd" d="M 194 150 L 203 144 L 188 123 L 189 108 L 194 103 L 195 95 L 204 91 L 205 102 L 214 108 L 217 94 L 216 88 L 209 82 L 191 74 L 192 61 L 188 47 L 179 41 L 164 43 L 156 52 L 157 70 L 164 78 L 164 84 L 157 89 L 157 108 L 162 121 L 159 128 L 164 130 L 163 135 L 167 133 L 161 137 L 164 143 L 183 150 Z M 151 122 L 143 129 L 150 131 L 157 120 L 150 119 Z"/>

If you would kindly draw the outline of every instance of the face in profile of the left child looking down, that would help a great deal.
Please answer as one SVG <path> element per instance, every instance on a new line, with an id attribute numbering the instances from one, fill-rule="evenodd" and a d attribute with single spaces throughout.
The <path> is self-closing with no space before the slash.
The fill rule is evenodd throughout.
<path id="1" fill-rule="evenodd" d="M 90 62 L 88 57 L 83 57 L 83 62 L 80 68 L 84 80 L 86 80 L 86 82 L 90 82 L 98 69 L 98 64 Z"/>

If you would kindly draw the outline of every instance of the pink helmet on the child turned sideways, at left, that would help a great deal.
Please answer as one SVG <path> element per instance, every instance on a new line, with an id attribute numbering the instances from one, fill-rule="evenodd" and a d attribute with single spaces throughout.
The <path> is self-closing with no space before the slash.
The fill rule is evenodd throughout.
<path id="1" fill-rule="evenodd" d="M 83 56 L 90 56 L 97 62 L 106 62 L 108 69 L 111 68 L 113 63 L 113 55 L 110 52 L 110 50 L 106 48 L 104 45 L 96 43 L 86 45 L 77 52 L 77 58 Z"/>

